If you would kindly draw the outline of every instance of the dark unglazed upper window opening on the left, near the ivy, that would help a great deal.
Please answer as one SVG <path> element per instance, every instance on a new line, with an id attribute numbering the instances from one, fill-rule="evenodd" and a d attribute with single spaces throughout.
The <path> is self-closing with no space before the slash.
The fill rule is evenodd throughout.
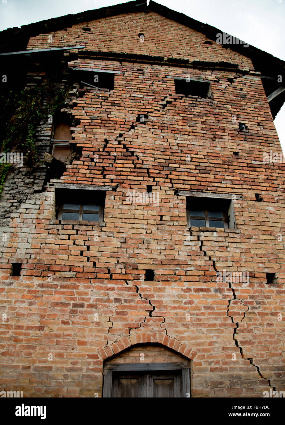
<path id="1" fill-rule="evenodd" d="M 94 71 L 94 70 L 71 70 L 71 79 L 73 83 L 79 82 L 81 87 L 89 86 L 99 90 L 113 90 L 114 89 L 114 76 L 113 72 Z"/>

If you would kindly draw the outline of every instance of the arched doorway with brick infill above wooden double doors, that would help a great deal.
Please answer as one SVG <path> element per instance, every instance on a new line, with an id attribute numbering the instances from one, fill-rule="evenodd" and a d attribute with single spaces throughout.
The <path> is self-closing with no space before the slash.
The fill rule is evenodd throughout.
<path id="1" fill-rule="evenodd" d="M 191 362 L 161 344 L 136 344 L 104 362 L 103 397 L 190 397 Z"/>

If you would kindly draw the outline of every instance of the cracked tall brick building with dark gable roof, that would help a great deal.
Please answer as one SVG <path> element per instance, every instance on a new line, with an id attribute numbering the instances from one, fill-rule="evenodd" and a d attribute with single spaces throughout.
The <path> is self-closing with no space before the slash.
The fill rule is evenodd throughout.
<path id="1" fill-rule="evenodd" d="M 0 34 L 4 92 L 64 93 L 0 199 L 1 389 L 284 390 L 284 62 L 218 33 L 134 1 Z"/>

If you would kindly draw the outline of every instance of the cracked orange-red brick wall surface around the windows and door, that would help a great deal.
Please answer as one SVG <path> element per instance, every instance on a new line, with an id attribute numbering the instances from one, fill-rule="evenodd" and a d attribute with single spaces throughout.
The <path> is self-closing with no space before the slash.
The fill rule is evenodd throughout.
<path id="1" fill-rule="evenodd" d="M 285 173 L 284 164 L 262 162 L 262 153 L 282 151 L 260 75 L 248 58 L 205 45 L 202 34 L 152 12 L 88 23 L 91 34 L 83 26 L 52 34 L 52 46 L 181 53 L 239 68 L 70 62 L 122 74 L 113 91 L 90 89 L 73 100 L 80 121 L 73 138 L 83 153 L 61 180 L 113 190 L 104 224 L 57 220 L 56 181 L 12 214 L 1 263 L 1 385 L 27 396 L 93 397 L 102 393 L 104 360 L 155 343 L 163 361 L 162 347 L 192 360 L 194 397 L 282 390 Z M 34 37 L 28 48 L 51 46 L 47 37 Z M 176 95 L 167 76 L 178 75 L 210 80 L 213 99 Z M 148 122 L 135 125 L 139 113 Z M 238 122 L 248 132 L 238 132 Z M 149 184 L 158 205 L 128 202 L 128 192 Z M 234 201 L 237 229 L 189 230 L 179 190 L 243 195 Z M 10 275 L 11 262 L 23 262 L 19 278 Z M 141 278 L 146 269 L 155 270 L 154 281 Z M 249 283 L 217 282 L 224 269 L 249 272 Z M 276 272 L 277 283 L 268 285 L 266 272 Z"/>

